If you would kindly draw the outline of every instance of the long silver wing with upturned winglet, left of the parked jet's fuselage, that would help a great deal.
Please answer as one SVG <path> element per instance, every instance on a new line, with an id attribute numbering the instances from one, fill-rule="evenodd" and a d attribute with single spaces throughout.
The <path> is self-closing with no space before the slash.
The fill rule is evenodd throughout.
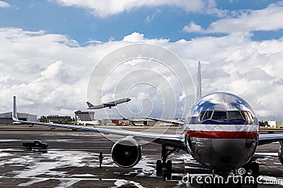
<path id="1" fill-rule="evenodd" d="M 26 124 L 33 124 L 33 125 L 45 125 L 50 127 L 62 127 L 62 128 L 69 128 L 72 130 L 86 130 L 86 131 L 93 131 L 93 132 L 100 132 L 103 134 L 117 134 L 125 137 L 132 137 L 134 139 L 143 139 L 145 141 L 152 141 L 157 144 L 166 144 L 166 146 L 175 147 L 178 149 L 183 149 L 186 151 L 185 147 L 185 138 L 183 134 L 156 134 L 156 133 L 149 133 L 149 132 L 136 132 L 136 131 L 127 131 L 127 130 L 111 130 L 107 128 L 98 128 L 98 127 L 83 127 L 77 125 L 62 125 L 62 124 L 55 124 L 55 123 L 39 123 L 33 121 L 23 121 L 18 120 L 17 117 L 17 108 L 16 108 L 16 96 L 13 97 L 13 121 L 16 123 L 26 123 Z"/>

